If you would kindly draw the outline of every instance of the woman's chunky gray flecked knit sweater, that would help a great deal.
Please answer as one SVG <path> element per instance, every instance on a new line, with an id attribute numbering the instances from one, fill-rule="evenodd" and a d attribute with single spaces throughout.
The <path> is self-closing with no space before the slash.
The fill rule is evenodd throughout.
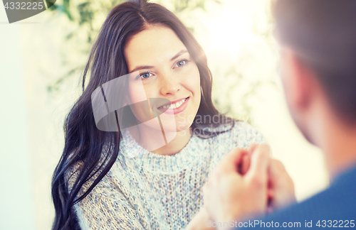
<path id="1" fill-rule="evenodd" d="M 128 135 L 114 165 L 90 194 L 75 204 L 81 229 L 185 229 L 203 206 L 201 188 L 211 170 L 233 148 L 263 142 L 249 124 L 236 122 L 212 138 L 192 136 L 175 155 L 147 152 Z M 108 149 L 105 149 L 108 151 Z M 139 153 L 139 154 L 137 154 Z M 138 155 L 129 158 L 129 155 Z M 73 186 L 80 163 L 67 175 Z M 75 173 L 73 173 L 75 172 Z M 89 180 L 83 194 L 93 182 Z"/>

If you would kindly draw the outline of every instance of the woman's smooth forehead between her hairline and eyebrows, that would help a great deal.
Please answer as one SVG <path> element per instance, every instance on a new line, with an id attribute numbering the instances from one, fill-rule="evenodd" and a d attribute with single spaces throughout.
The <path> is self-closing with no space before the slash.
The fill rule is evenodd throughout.
<path id="1" fill-rule="evenodd" d="M 149 26 L 133 35 L 125 46 L 129 68 L 133 65 L 154 65 L 167 62 L 181 50 L 187 50 L 177 34 L 165 26 Z"/>

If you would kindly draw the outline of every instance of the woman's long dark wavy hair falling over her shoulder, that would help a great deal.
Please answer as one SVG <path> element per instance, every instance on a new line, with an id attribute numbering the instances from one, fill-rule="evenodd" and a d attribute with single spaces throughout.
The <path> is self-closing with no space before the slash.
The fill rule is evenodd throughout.
<path id="1" fill-rule="evenodd" d="M 56 209 L 53 230 L 79 229 L 73 214 L 73 205 L 84 199 L 95 185 L 103 179 L 117 159 L 120 143 L 118 132 L 100 131 L 95 126 L 91 105 L 91 94 L 105 82 L 127 75 L 127 63 L 124 48 L 127 41 L 146 26 L 159 24 L 171 28 L 177 33 L 189 54 L 197 63 L 201 78 L 201 102 L 198 114 L 201 116 L 219 116 L 220 122 L 226 121 L 215 109 L 211 101 L 211 72 L 207 66 L 206 55 L 197 40 L 174 14 L 163 6 L 146 1 L 128 1 L 116 6 L 106 18 L 98 39 L 90 52 L 83 74 L 83 94 L 70 110 L 64 124 L 65 146 L 61 160 L 53 174 L 52 197 Z M 90 70 L 90 80 L 85 80 Z M 196 117 L 197 118 L 197 117 Z M 218 124 L 219 125 L 219 124 Z M 199 128 L 194 119 L 193 128 Z M 103 157 L 105 141 L 110 140 L 110 154 Z M 82 163 L 73 187 L 68 191 L 66 172 L 76 163 Z M 85 182 L 98 175 L 92 185 L 78 196 Z"/>

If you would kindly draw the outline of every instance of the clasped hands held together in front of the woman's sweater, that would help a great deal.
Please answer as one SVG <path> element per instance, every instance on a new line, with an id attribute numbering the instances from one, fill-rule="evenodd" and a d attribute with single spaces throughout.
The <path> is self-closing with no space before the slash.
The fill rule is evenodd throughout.
<path id="1" fill-rule="evenodd" d="M 295 202 L 294 185 L 266 144 L 224 156 L 203 187 L 204 209 L 214 222 L 258 217 Z"/>

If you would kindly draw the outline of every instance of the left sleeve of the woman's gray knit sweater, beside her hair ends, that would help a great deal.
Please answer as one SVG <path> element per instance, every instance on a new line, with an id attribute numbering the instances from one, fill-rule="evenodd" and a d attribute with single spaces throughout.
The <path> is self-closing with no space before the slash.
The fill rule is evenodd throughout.
<path id="1" fill-rule="evenodd" d="M 72 189 L 78 177 L 80 166 L 78 163 L 67 172 L 69 190 Z M 78 196 L 88 190 L 95 180 L 92 177 L 81 187 Z M 74 205 L 80 229 L 82 230 L 115 230 L 115 229 L 151 229 L 140 207 L 130 202 L 134 197 L 127 197 L 120 187 L 112 181 L 112 174 L 108 172 L 98 185 L 80 202 Z M 141 215 L 140 215 L 140 214 Z"/>

